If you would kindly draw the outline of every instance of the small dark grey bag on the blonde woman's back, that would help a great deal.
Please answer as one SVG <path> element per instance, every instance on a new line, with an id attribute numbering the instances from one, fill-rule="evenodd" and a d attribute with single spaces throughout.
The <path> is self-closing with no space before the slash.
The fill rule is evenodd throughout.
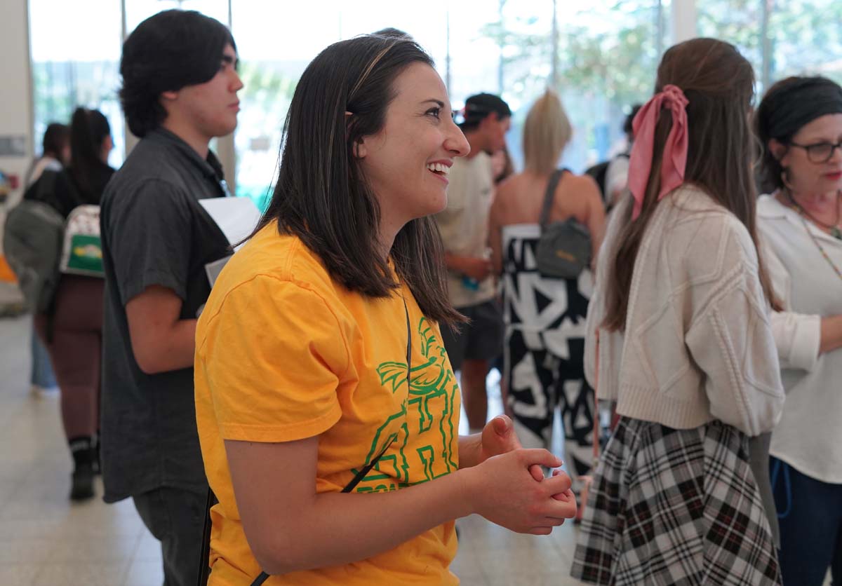
<path id="1" fill-rule="evenodd" d="M 535 261 L 541 277 L 575 279 L 590 265 L 590 233 L 575 218 L 548 224 L 556 187 L 564 171 L 558 169 L 554 172 L 546 186 L 544 205 L 538 219 L 541 236 L 535 250 Z"/>

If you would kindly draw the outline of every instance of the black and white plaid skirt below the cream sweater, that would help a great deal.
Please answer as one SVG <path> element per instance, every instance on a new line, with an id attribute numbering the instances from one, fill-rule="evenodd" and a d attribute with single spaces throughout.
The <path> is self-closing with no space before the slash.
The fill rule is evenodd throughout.
<path id="1" fill-rule="evenodd" d="M 594 474 L 571 575 L 612 586 L 780 584 L 748 437 L 721 421 L 674 430 L 622 417 Z"/>

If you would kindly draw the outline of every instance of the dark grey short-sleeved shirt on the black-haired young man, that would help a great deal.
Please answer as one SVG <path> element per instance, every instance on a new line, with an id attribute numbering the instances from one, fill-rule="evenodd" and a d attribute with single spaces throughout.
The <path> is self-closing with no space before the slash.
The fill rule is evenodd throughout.
<path id="1" fill-rule="evenodd" d="M 213 153 L 203 160 L 164 129 L 143 138 L 102 200 L 105 314 L 101 457 L 106 502 L 155 488 L 204 490 L 193 368 L 145 374 L 131 349 L 125 304 L 161 285 L 195 318 L 210 294 L 205 265 L 230 254 L 198 201 L 226 195 Z"/>

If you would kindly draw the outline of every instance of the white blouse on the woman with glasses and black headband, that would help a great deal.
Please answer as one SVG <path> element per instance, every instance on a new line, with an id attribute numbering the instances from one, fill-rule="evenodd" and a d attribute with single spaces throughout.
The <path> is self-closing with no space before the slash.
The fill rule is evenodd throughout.
<path id="1" fill-rule="evenodd" d="M 757 205 L 761 251 L 785 312 L 773 314 L 786 403 L 770 453 L 825 483 L 842 483 L 842 349 L 818 356 L 821 318 L 842 314 L 842 240 L 770 195 Z M 813 237 L 811 237 L 813 235 Z"/>

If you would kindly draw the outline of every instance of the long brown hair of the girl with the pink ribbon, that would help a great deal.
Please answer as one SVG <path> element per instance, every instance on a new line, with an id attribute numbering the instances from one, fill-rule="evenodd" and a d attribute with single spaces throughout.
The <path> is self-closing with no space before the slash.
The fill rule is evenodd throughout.
<path id="1" fill-rule="evenodd" d="M 757 193 L 751 172 L 754 142 L 749 123 L 754 71 L 749 61 L 733 45 L 721 40 L 688 40 L 663 54 L 655 93 L 668 84 L 678 86 L 689 101 L 685 183 L 699 187 L 734 214 L 749 230 L 757 247 Z M 610 263 L 603 321 L 608 330 L 623 330 L 626 326 L 632 272 L 643 235 L 658 208 L 663 148 L 672 125 L 669 109 L 662 109 L 655 128 L 652 171 L 641 214 L 632 220 L 632 206 L 626 206 L 615 245 L 605 259 Z M 766 298 L 776 307 L 762 259 L 759 277 Z"/>

